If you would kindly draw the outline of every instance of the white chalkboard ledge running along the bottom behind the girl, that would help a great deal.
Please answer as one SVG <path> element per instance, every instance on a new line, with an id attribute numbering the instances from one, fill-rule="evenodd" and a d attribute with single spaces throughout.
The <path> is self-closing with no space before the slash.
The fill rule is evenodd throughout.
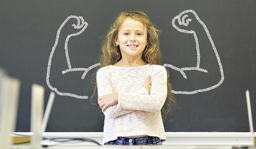
<path id="1" fill-rule="evenodd" d="M 19 135 L 32 135 L 32 132 L 15 132 Z M 18 136 L 13 134 L 13 136 Z M 44 132 L 44 138 L 90 138 L 102 143 L 103 132 Z M 254 132 L 254 137 L 256 133 Z M 250 132 L 166 132 L 163 145 L 253 145 Z M 54 141 L 43 140 L 41 144 L 54 145 Z M 81 143 L 79 143 L 81 144 Z M 84 142 L 91 145 L 93 143 Z"/>

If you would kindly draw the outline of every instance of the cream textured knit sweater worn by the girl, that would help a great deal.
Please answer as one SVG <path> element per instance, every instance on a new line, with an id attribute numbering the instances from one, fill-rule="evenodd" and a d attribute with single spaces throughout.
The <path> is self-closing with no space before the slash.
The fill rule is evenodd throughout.
<path id="1" fill-rule="evenodd" d="M 151 75 L 151 91 L 143 87 Z M 102 143 L 118 137 L 148 135 L 165 141 L 161 109 L 167 96 L 166 68 L 106 66 L 97 72 L 98 95 L 118 92 L 118 104 L 108 107 Z"/>

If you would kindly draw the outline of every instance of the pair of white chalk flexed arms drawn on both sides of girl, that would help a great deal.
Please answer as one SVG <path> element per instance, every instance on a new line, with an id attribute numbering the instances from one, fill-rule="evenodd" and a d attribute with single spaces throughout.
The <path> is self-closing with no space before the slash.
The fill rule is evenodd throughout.
<path id="1" fill-rule="evenodd" d="M 192 13 L 195 15 L 196 19 L 198 20 L 198 22 L 201 23 L 201 25 L 203 25 L 204 30 L 205 30 L 206 33 L 207 33 L 207 36 L 208 36 L 208 38 L 209 38 L 209 41 L 211 42 L 212 48 L 213 48 L 213 50 L 214 50 L 214 52 L 215 52 L 215 56 L 216 56 L 216 58 L 217 58 L 217 60 L 218 60 L 218 65 L 219 65 L 220 71 L 221 71 L 221 80 L 220 80 L 217 84 L 215 84 L 215 85 L 213 85 L 213 86 L 211 86 L 211 87 L 208 87 L 208 88 L 204 88 L 204 89 L 199 89 L 199 90 L 194 90 L 194 91 L 175 91 L 175 90 L 172 90 L 172 93 L 175 93 L 175 94 L 195 94 L 195 93 L 199 93 L 199 92 L 209 91 L 209 90 L 212 90 L 212 89 L 214 89 L 214 88 L 220 86 L 220 85 L 222 84 L 222 82 L 224 81 L 223 67 L 222 67 L 222 65 L 221 65 L 221 60 L 220 60 L 220 58 L 219 58 L 219 56 L 218 56 L 218 52 L 217 52 L 217 50 L 216 50 L 216 48 L 215 48 L 214 42 L 212 41 L 212 38 L 211 38 L 211 36 L 210 36 L 210 34 L 209 34 L 209 31 L 208 31 L 206 25 L 204 24 L 204 22 L 202 22 L 202 21 L 200 20 L 200 18 L 199 18 L 198 15 L 196 14 L 196 12 L 193 11 L 193 10 L 186 10 L 186 11 L 183 11 L 183 12 L 181 12 L 179 15 L 177 15 L 176 17 L 174 17 L 173 20 L 172 20 L 172 25 L 173 25 L 173 27 L 174 27 L 177 31 L 180 31 L 180 32 L 183 32 L 183 33 L 186 33 L 186 34 L 193 34 L 193 35 L 194 35 L 195 44 L 196 44 L 196 50 L 197 50 L 197 65 L 196 65 L 196 67 L 183 67 L 183 68 L 178 68 L 178 67 L 175 67 L 175 66 L 170 65 L 170 64 L 164 64 L 164 66 L 165 66 L 165 67 L 171 67 L 172 69 L 179 71 L 179 72 L 183 75 L 183 77 L 184 77 L 185 79 L 187 78 L 187 77 L 186 77 L 186 74 L 184 73 L 185 70 L 198 70 L 198 71 L 201 71 L 201 72 L 204 72 L 204 73 L 207 73 L 207 72 L 208 72 L 207 70 L 200 68 L 200 49 L 199 49 L 198 38 L 197 38 L 197 35 L 196 35 L 195 31 L 183 30 L 183 29 L 178 28 L 178 27 L 175 25 L 175 20 L 178 19 L 178 22 L 179 22 L 180 25 L 188 26 L 188 25 L 189 25 L 189 22 L 192 21 L 190 18 L 187 19 L 187 20 L 185 20 L 186 17 L 188 17 L 188 15 L 184 15 L 184 16 L 182 17 L 182 19 L 180 20 L 180 17 L 181 17 L 183 14 L 188 13 L 188 12 L 192 12 Z M 81 34 L 81 33 L 85 30 L 85 28 L 87 28 L 87 25 L 88 25 L 88 24 L 87 24 L 87 22 L 84 22 L 84 19 L 83 19 L 82 17 L 77 17 L 77 16 L 70 16 L 70 17 L 67 17 L 67 19 L 61 24 L 60 28 L 59 28 L 58 31 L 57 31 L 57 36 L 56 36 L 56 39 L 55 39 L 55 44 L 54 44 L 54 46 L 52 47 L 52 51 L 51 51 L 50 56 L 49 56 L 48 67 L 47 67 L 47 78 L 46 78 L 46 80 L 47 80 L 47 85 L 48 85 L 48 87 L 49 87 L 51 90 L 55 91 L 55 93 L 57 93 L 58 95 L 61 95 L 61 96 L 71 96 L 71 97 L 81 98 L 81 99 L 87 99 L 88 96 L 79 96 L 79 95 L 76 95 L 76 94 L 73 94 L 73 93 L 62 93 L 62 92 L 59 92 L 56 87 L 52 87 L 52 85 L 49 83 L 49 74 L 50 74 L 50 66 L 51 66 L 52 56 L 53 56 L 53 53 L 54 53 L 54 51 L 55 51 L 56 46 L 58 45 L 58 39 L 59 39 L 60 31 L 61 31 L 61 29 L 63 28 L 63 26 L 65 25 L 65 23 L 66 23 L 70 18 L 76 18 L 77 21 L 78 21 L 77 25 L 75 25 L 75 24 L 72 25 L 74 28 L 77 28 L 77 29 L 82 28 L 82 29 L 81 29 L 81 31 L 79 31 L 78 33 L 68 35 L 67 38 L 66 38 L 66 41 L 65 41 L 65 55 L 66 55 L 67 65 L 68 65 L 69 69 L 62 71 L 62 73 L 64 74 L 64 73 L 71 72 L 71 71 L 84 71 L 83 75 L 81 76 L 81 79 L 84 79 L 84 77 L 86 76 L 86 74 L 88 73 L 89 70 L 91 70 L 91 69 L 93 69 L 94 67 L 97 67 L 97 66 L 100 65 L 99 63 L 96 63 L 96 64 L 94 64 L 94 65 L 92 65 L 92 66 L 90 66 L 90 67 L 88 67 L 88 68 L 72 68 L 72 67 L 71 67 L 70 58 L 69 58 L 69 54 L 68 54 L 68 48 L 67 48 L 68 41 L 69 41 L 70 37 L 77 36 L 77 35 Z M 81 25 L 80 25 L 80 20 L 81 20 L 81 22 L 82 22 Z"/>

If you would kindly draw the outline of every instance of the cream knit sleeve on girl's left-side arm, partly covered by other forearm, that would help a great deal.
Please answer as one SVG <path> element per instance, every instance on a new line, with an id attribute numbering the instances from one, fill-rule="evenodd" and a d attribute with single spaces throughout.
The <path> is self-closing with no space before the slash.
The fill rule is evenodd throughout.
<path id="1" fill-rule="evenodd" d="M 96 75 L 96 80 L 97 80 L 97 87 L 98 87 L 98 96 L 103 96 L 106 94 L 113 93 L 110 68 L 103 67 L 103 68 L 99 69 L 97 72 L 97 75 Z M 140 89 L 136 93 L 140 93 L 140 94 L 144 93 L 145 94 L 145 90 L 146 89 Z M 114 117 L 124 115 L 129 112 L 133 112 L 133 111 L 134 110 L 118 108 L 117 104 L 116 104 L 111 107 L 108 107 L 105 110 L 104 115 L 108 118 L 114 118 Z"/>

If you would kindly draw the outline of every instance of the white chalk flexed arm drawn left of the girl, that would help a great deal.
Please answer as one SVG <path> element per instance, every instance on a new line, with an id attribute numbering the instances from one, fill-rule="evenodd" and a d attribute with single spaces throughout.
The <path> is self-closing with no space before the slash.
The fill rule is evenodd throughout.
<path id="1" fill-rule="evenodd" d="M 55 43 L 54 43 L 54 45 L 52 47 L 52 51 L 50 53 L 49 60 L 48 60 L 46 82 L 47 82 L 48 87 L 51 90 L 55 91 L 55 93 L 57 93 L 58 95 L 61 95 L 61 96 L 71 96 L 71 97 L 75 97 L 75 98 L 79 98 L 79 99 L 87 99 L 88 96 L 79 96 L 79 95 L 76 95 L 76 94 L 73 94 L 73 93 L 62 93 L 62 92 L 58 91 L 56 87 L 52 87 L 52 85 L 49 82 L 50 69 L 51 69 L 51 63 L 52 63 L 52 56 L 54 54 L 55 48 L 58 45 L 58 40 L 59 40 L 59 36 L 60 36 L 60 33 L 61 33 L 61 29 L 67 23 L 67 21 L 70 20 L 71 18 L 75 18 L 77 20 L 77 24 L 73 24 L 72 26 L 74 28 L 76 28 L 76 29 L 81 29 L 81 30 L 79 32 L 77 32 L 77 33 L 68 35 L 67 38 L 66 38 L 66 41 L 65 41 L 65 54 L 66 54 L 68 69 L 62 71 L 62 74 L 68 73 L 68 72 L 71 72 L 71 71 L 84 71 L 83 75 L 81 76 L 81 79 L 84 79 L 84 77 L 86 76 L 86 74 L 88 73 L 89 70 L 91 70 L 94 67 L 97 67 L 97 66 L 100 65 L 100 63 L 96 63 L 94 65 L 91 65 L 88 68 L 72 68 L 71 67 L 70 58 L 69 58 L 69 54 L 68 54 L 68 48 L 67 48 L 68 41 L 69 41 L 70 37 L 77 36 L 77 35 L 81 34 L 87 28 L 87 25 L 88 25 L 87 22 L 84 22 L 84 18 L 83 17 L 81 17 L 81 16 L 77 17 L 77 16 L 71 15 L 71 16 L 67 17 L 67 19 L 61 24 L 61 26 L 59 27 L 59 29 L 57 31 Z"/>

